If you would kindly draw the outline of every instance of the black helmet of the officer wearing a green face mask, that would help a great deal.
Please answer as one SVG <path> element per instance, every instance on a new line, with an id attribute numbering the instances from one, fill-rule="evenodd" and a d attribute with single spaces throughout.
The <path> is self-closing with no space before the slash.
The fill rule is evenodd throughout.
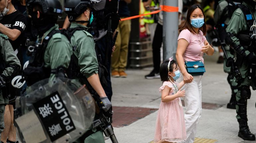
<path id="1" fill-rule="evenodd" d="M 98 0 L 66 0 L 64 11 L 70 22 L 80 16 L 87 8 L 93 7 Z"/>

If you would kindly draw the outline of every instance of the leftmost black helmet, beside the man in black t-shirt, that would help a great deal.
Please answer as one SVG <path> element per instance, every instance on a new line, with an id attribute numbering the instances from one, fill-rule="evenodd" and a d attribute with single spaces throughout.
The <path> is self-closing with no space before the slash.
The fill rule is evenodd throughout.
<path id="1" fill-rule="evenodd" d="M 42 6 L 42 13 L 45 15 L 62 15 L 62 6 L 59 0 L 27 0 L 28 12 L 33 12 L 35 5 Z"/>

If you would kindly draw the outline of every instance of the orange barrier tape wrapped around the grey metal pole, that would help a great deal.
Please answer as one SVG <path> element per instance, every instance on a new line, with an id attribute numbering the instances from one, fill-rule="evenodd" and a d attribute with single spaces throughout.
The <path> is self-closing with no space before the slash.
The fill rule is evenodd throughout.
<path id="1" fill-rule="evenodd" d="M 134 18 L 140 18 L 140 17 L 146 16 L 146 15 L 153 15 L 153 14 L 157 14 L 161 11 L 164 11 L 164 12 L 178 12 L 179 11 L 179 7 L 165 6 L 165 5 L 161 5 L 160 7 L 161 7 L 161 10 L 153 11 L 153 12 L 150 12 L 150 13 L 147 13 L 147 14 L 132 16 L 132 17 L 129 17 L 129 18 L 123 18 L 123 19 L 121 19 L 121 21 L 134 19 Z"/>

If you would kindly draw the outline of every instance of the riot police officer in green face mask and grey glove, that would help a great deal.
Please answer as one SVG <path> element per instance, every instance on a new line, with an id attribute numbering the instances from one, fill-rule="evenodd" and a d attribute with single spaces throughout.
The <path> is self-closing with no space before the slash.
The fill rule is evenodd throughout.
<path id="1" fill-rule="evenodd" d="M 87 25 L 93 20 L 91 7 L 95 4 L 90 0 L 66 0 L 64 11 L 71 22 L 67 30 L 72 35 L 70 43 L 73 48 L 71 60 L 71 78 L 78 79 L 85 84 L 89 91 L 95 90 L 104 104 L 103 110 L 107 111 L 111 103 L 101 86 L 98 76 L 98 61 L 95 52 L 93 37 L 87 32 Z M 70 33 L 71 32 L 71 33 Z M 92 93 L 94 94 L 94 93 Z M 103 132 L 100 128 L 89 128 L 76 143 L 104 143 Z"/>

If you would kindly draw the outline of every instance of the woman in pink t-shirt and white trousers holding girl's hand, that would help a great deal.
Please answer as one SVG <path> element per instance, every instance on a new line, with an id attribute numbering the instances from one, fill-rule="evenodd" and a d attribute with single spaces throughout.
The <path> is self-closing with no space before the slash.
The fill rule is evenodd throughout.
<path id="1" fill-rule="evenodd" d="M 198 120 L 201 116 L 201 80 L 202 76 L 192 76 L 185 68 L 185 61 L 199 61 L 204 62 L 202 55 L 212 55 L 213 48 L 209 45 L 205 38 L 206 24 L 204 14 L 199 5 L 192 5 L 188 10 L 188 15 L 185 25 L 180 29 L 178 38 L 178 47 L 176 58 L 180 71 L 183 75 L 183 80 L 186 84 L 186 96 L 184 102 L 186 105 L 185 123 L 187 131 L 186 143 L 193 143 Z M 182 76 L 181 76 L 182 77 Z"/>

